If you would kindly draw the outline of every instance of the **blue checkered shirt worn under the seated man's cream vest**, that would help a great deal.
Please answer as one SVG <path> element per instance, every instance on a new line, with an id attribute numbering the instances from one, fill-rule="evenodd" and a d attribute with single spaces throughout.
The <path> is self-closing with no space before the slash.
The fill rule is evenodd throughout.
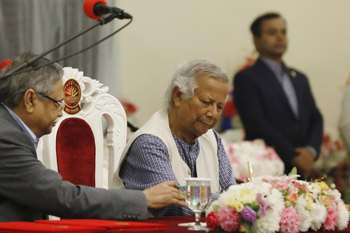
<path id="1" fill-rule="evenodd" d="M 218 144 L 219 184 L 224 191 L 230 185 L 236 184 L 236 180 L 233 178 L 232 167 L 221 138 L 215 130 L 213 131 Z M 182 160 L 191 169 L 191 176 L 197 177 L 196 159 L 200 151 L 198 139 L 194 145 L 189 145 L 176 137 L 175 134 L 173 134 L 173 138 Z M 170 164 L 167 146 L 160 138 L 152 134 L 142 134 L 134 140 L 120 167 L 119 177 L 125 188 L 135 190 L 145 190 L 164 181 L 175 180 L 177 182 Z M 177 183 L 179 184 L 179 182 Z M 212 200 L 217 198 L 217 194 L 211 194 Z M 155 217 L 193 214 L 193 211 L 188 207 L 180 206 L 167 206 L 151 212 Z"/>

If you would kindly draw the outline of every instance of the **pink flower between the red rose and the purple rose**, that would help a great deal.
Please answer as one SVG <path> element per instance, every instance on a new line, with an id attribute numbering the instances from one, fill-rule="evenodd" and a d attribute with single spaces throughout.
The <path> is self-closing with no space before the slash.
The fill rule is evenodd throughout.
<path id="1" fill-rule="evenodd" d="M 240 214 L 235 209 L 221 206 L 218 209 L 217 216 L 219 218 L 219 224 L 224 231 L 232 232 L 237 231 L 240 225 Z"/>

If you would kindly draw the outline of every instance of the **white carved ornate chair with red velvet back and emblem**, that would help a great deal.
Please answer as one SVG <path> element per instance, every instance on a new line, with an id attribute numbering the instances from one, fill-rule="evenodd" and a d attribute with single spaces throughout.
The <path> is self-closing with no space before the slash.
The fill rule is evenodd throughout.
<path id="1" fill-rule="evenodd" d="M 63 180 L 103 188 L 103 116 L 108 122 L 109 186 L 126 144 L 124 108 L 115 97 L 106 93 L 108 87 L 103 87 L 99 81 L 83 77 L 83 72 L 78 69 L 64 67 L 63 70 L 67 106 L 52 132 L 40 139 L 38 159 L 47 168 L 59 172 Z M 82 109 L 76 113 L 80 103 Z"/>

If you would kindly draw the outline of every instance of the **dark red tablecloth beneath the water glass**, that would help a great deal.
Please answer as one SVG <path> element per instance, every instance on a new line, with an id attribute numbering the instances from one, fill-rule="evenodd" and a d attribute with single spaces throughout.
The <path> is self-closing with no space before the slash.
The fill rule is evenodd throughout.
<path id="1" fill-rule="evenodd" d="M 188 227 L 177 226 L 177 224 L 179 224 L 179 223 L 189 223 L 189 222 L 194 222 L 194 221 L 195 221 L 195 216 L 176 216 L 176 217 L 149 218 L 149 219 L 147 219 L 146 222 L 147 223 L 165 223 L 165 224 L 168 224 L 169 230 L 159 231 L 159 233 L 160 232 L 166 232 L 166 233 L 191 232 L 191 233 L 194 233 L 194 231 L 187 230 Z M 201 221 L 202 222 L 205 221 L 205 216 L 202 216 Z M 199 231 L 199 232 L 204 232 L 204 231 Z M 314 231 L 311 231 L 311 232 L 314 232 Z M 332 233 L 344 233 L 344 232 L 350 232 L 349 226 L 347 229 L 345 229 L 343 231 L 333 231 Z M 324 233 L 324 231 L 322 233 Z"/>

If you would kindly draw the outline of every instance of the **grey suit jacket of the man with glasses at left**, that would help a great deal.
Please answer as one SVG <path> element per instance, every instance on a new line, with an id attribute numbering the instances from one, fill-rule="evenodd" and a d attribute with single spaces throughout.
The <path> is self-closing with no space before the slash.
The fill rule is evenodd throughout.
<path id="1" fill-rule="evenodd" d="M 62 218 L 147 218 L 142 191 L 100 189 L 62 181 L 37 160 L 33 143 L 0 104 L 0 222 Z"/>

